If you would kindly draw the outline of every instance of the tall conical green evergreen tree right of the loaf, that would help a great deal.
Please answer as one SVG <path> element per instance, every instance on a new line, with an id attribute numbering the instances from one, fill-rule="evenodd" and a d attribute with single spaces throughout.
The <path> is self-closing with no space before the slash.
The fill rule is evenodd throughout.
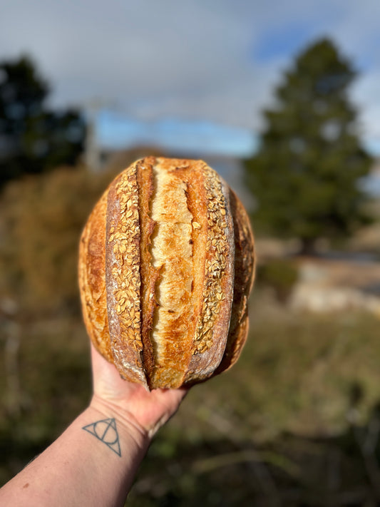
<path id="1" fill-rule="evenodd" d="M 245 165 L 255 225 L 299 237 L 304 251 L 319 237 L 345 237 L 369 220 L 358 183 L 371 158 L 348 97 L 355 77 L 332 41 L 309 46 L 284 73 L 276 105 L 264 112 L 258 153 Z"/>

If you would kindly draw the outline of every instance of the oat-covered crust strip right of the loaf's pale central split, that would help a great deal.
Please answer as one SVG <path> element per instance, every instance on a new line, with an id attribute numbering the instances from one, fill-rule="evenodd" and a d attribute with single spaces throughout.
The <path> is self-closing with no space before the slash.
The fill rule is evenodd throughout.
<path id="1" fill-rule="evenodd" d="M 234 240 L 227 185 L 206 164 L 206 260 L 203 271 L 202 312 L 197 322 L 194 351 L 186 383 L 210 377 L 225 351 L 234 280 Z M 202 267 L 203 270 L 203 267 Z"/>

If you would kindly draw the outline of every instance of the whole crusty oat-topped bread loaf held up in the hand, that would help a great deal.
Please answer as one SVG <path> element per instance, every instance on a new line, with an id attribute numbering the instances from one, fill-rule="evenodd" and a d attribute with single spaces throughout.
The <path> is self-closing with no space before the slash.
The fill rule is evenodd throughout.
<path id="1" fill-rule="evenodd" d="M 91 341 L 121 377 L 147 389 L 190 386 L 237 361 L 253 275 L 247 213 L 199 160 L 133 163 L 81 237 Z"/>

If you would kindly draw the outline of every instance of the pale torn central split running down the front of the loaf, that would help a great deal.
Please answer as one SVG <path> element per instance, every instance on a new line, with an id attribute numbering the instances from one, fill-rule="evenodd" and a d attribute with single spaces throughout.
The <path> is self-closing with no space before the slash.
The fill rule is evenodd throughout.
<path id="1" fill-rule="evenodd" d="M 151 216 L 153 266 L 160 272 L 155 285 L 156 307 L 150 338 L 155 357 L 152 385 L 182 384 L 188 367 L 194 320 L 192 213 L 188 182 L 165 164 L 153 167 L 155 199 Z"/>

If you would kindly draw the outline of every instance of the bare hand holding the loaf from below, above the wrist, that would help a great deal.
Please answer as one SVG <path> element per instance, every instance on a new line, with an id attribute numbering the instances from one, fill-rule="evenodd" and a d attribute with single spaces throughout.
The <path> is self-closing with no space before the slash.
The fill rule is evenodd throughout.
<path id="1" fill-rule="evenodd" d="M 146 391 L 140 384 L 123 380 L 115 366 L 104 359 L 91 344 L 93 399 L 99 411 L 111 408 L 123 421 L 152 437 L 180 406 L 188 389 Z"/>

